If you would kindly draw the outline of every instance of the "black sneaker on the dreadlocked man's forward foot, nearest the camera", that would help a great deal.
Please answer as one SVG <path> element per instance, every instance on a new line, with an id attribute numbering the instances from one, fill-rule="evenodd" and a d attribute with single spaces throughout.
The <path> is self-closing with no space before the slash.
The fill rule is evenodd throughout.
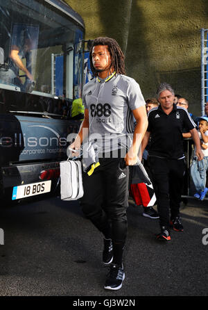
<path id="1" fill-rule="evenodd" d="M 107 275 L 104 288 L 107 290 L 119 290 L 121 288 L 123 280 L 125 279 L 125 273 L 123 265 L 119 266 L 116 263 L 110 264 L 110 272 Z"/>

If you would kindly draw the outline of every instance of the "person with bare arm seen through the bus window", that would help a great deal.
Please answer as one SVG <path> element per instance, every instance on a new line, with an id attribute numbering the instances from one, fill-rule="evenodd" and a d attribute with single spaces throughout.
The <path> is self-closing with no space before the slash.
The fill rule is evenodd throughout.
<path id="1" fill-rule="evenodd" d="M 23 40 L 20 39 L 22 36 Z M 34 80 L 31 74 L 32 44 L 33 40 L 27 31 L 24 31 L 22 35 L 20 33 L 19 35 L 14 35 L 8 58 L 8 70 L 1 76 L 1 81 L 3 81 L 3 83 L 15 84 L 24 91 L 28 81 L 32 82 Z M 26 66 L 22 62 L 23 58 L 26 58 Z M 25 83 L 19 76 L 19 70 L 25 73 Z"/>

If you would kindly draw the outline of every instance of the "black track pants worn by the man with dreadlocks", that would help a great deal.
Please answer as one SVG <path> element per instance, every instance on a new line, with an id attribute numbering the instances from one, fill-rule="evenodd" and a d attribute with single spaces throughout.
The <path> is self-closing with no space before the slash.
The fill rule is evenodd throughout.
<path id="1" fill-rule="evenodd" d="M 123 158 L 100 158 L 91 176 L 83 173 L 83 213 L 105 238 L 125 243 L 129 168 Z"/>

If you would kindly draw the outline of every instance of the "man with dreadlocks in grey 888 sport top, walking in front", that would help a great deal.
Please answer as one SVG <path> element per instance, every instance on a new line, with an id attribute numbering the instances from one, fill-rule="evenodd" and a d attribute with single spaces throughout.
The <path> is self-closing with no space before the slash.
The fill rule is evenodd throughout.
<path id="1" fill-rule="evenodd" d="M 84 87 L 85 116 L 70 147 L 80 149 L 89 131 L 88 142 L 93 140 L 98 152 L 98 167 L 93 173 L 83 173 L 81 205 L 104 236 L 103 263 L 110 265 L 105 288 L 117 290 L 125 278 L 122 256 L 127 235 L 128 165 L 137 163 L 146 132 L 146 102 L 139 84 L 125 75 L 124 56 L 114 39 L 96 38 L 89 58 L 94 79 Z"/>

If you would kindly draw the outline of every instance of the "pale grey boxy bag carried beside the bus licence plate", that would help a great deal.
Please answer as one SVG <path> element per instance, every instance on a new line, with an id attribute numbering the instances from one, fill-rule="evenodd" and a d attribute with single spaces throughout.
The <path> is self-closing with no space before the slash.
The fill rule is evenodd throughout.
<path id="1" fill-rule="evenodd" d="M 62 200 L 77 200 L 83 197 L 81 161 L 60 162 L 60 197 Z"/>

